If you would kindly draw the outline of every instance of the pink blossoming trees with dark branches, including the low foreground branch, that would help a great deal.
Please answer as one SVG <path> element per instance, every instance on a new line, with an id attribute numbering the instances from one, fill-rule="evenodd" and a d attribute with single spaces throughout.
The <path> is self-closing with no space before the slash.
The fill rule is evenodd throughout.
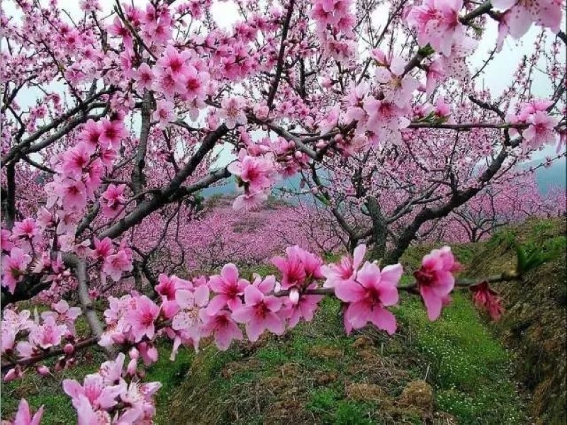
<path id="1" fill-rule="evenodd" d="M 564 139 L 562 1 L 232 4 L 239 16 L 223 28 L 211 0 L 82 0 L 75 16 L 55 1 L 2 3 L 1 370 L 4 381 L 45 375 L 101 347 L 98 373 L 63 382 L 79 424 L 152 420 L 160 385 L 142 383 L 140 363 L 156 361 L 158 338 L 173 357 L 206 338 L 224 350 L 310 320 L 323 296 L 342 301 L 347 332 L 371 323 L 392 334 L 388 307 L 400 291 L 421 296 L 434 320 L 458 286 L 497 316 L 488 283 L 521 275 L 456 280 L 445 247 L 400 286 L 398 259 L 425 222 Z M 485 66 L 467 63 L 490 25 L 498 40 L 485 64 L 504 42 L 541 29 L 494 98 L 478 89 L 491 77 Z M 551 87 L 543 100 L 530 91 L 539 60 Z M 217 167 L 220 147 L 237 159 Z M 246 280 L 232 263 L 213 276 L 167 274 L 189 261 L 178 235 L 203 188 L 234 176 L 234 214 L 244 215 L 298 173 L 347 229 L 352 257 L 325 264 L 292 246 L 271 260 L 277 278 Z M 381 263 L 364 262 L 364 235 L 334 193 L 369 211 L 362 232 Z M 386 252 L 388 224 L 403 216 Z M 130 278 L 139 290 L 121 286 Z M 109 288 L 122 293 L 101 301 L 101 316 L 94 297 Z M 38 298 L 51 310 L 18 308 Z M 81 314 L 90 334 L 74 329 Z M 42 413 L 22 400 L 14 423 L 37 424 Z"/>

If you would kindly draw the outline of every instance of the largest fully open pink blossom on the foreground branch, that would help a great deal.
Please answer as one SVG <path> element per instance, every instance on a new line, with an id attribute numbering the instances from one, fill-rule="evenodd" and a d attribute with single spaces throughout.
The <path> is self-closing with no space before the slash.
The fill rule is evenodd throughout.
<path id="1" fill-rule="evenodd" d="M 372 322 L 378 327 L 393 334 L 395 317 L 384 307 L 398 302 L 398 281 L 402 276 L 402 266 L 386 266 L 380 268 L 374 263 L 366 262 L 357 273 L 357 280 L 345 280 L 335 286 L 335 295 L 339 300 L 349 302 L 345 313 L 345 322 L 354 329 L 364 327 Z"/>

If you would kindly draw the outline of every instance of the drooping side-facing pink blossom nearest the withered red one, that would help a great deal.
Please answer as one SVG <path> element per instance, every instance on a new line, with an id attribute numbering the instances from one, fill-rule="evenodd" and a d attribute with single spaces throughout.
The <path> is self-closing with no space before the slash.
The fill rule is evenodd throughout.
<path id="1" fill-rule="evenodd" d="M 455 285 L 452 273 L 459 267 L 451 248 L 444 246 L 424 256 L 421 268 L 413 273 L 430 320 L 436 320 L 441 314 L 443 299 Z"/>

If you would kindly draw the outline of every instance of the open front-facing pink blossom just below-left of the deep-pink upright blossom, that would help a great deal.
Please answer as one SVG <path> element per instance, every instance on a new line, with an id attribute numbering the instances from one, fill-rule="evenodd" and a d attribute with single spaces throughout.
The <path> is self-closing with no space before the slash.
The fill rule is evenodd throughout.
<path id="1" fill-rule="evenodd" d="M 268 329 L 281 335 L 285 329 L 282 319 L 276 314 L 281 308 L 281 299 L 264 295 L 254 285 L 248 285 L 244 291 L 245 305 L 232 312 L 232 319 L 246 324 L 246 334 L 250 341 L 257 341 Z"/>

